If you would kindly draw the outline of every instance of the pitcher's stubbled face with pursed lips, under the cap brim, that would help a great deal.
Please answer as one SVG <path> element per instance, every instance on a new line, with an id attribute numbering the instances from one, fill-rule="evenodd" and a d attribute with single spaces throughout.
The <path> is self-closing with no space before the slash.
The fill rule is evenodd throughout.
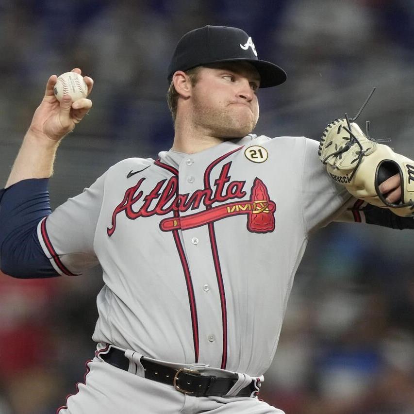
<path id="1" fill-rule="evenodd" d="M 259 84 L 259 73 L 247 62 L 200 68 L 191 97 L 193 123 L 218 138 L 247 135 L 259 118 Z"/>

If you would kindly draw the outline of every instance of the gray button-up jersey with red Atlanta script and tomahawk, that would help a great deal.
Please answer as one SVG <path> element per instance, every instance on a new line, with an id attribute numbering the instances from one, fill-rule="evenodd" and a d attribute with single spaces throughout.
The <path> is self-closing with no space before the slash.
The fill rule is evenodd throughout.
<path id="1" fill-rule="evenodd" d="M 350 198 L 304 137 L 130 158 L 42 220 L 61 274 L 100 264 L 98 343 L 260 376 L 310 231 Z"/>

